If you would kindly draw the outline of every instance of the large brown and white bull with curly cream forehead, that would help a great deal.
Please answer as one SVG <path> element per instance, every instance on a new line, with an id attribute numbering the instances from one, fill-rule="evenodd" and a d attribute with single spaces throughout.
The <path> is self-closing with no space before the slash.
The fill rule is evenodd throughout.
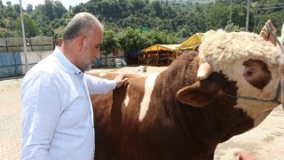
<path id="1" fill-rule="evenodd" d="M 279 105 L 279 59 L 280 48 L 254 33 L 207 32 L 198 55 L 91 95 L 95 158 L 214 159 L 218 143 L 256 127 Z"/>

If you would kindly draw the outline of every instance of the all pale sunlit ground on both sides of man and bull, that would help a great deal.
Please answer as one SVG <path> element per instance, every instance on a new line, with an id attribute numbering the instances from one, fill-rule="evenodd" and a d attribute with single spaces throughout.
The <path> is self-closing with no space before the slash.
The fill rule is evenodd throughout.
<path id="1" fill-rule="evenodd" d="M 136 72 L 138 67 L 98 68 L 91 72 L 126 72 L 146 76 L 161 72 L 167 67 L 147 67 L 146 72 Z M 20 159 L 20 83 L 22 78 L 0 80 L 0 160 Z M 219 144 L 215 160 L 233 160 L 233 152 L 243 149 L 258 160 L 284 159 L 284 111 L 275 108 L 255 129 Z"/>

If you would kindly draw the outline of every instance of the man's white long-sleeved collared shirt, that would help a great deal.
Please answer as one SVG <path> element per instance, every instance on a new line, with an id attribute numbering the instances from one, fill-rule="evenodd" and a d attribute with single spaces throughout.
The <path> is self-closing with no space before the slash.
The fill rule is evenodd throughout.
<path id="1" fill-rule="evenodd" d="M 83 74 L 56 48 L 31 68 L 22 82 L 21 158 L 93 159 L 89 94 L 106 93 L 115 86 L 113 80 Z"/>

